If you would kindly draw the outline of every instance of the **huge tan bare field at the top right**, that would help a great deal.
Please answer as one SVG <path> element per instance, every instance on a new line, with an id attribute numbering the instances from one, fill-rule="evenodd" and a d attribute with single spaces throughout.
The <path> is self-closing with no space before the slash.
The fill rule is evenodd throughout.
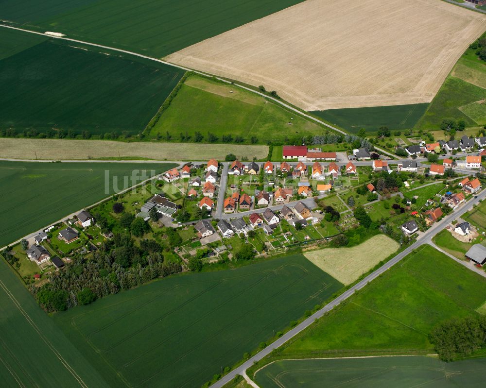
<path id="1" fill-rule="evenodd" d="M 486 17 L 439 0 L 308 0 L 165 59 L 307 111 L 430 102 Z"/>

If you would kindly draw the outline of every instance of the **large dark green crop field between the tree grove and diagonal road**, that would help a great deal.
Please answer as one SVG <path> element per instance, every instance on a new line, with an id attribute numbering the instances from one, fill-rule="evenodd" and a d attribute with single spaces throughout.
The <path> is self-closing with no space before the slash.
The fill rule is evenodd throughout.
<path id="1" fill-rule="evenodd" d="M 292 255 L 155 281 L 54 320 L 115 386 L 199 387 L 341 287 Z"/>

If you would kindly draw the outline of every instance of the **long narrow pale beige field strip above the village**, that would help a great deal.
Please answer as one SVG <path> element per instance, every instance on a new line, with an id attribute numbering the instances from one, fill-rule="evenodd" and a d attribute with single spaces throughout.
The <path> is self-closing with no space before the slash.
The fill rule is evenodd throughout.
<path id="1" fill-rule="evenodd" d="M 224 160 L 228 153 L 249 160 L 264 159 L 268 146 L 191 143 L 124 143 L 104 140 L 0 138 L 0 158 L 7 159 L 100 159 L 148 158 L 154 160 Z"/>

